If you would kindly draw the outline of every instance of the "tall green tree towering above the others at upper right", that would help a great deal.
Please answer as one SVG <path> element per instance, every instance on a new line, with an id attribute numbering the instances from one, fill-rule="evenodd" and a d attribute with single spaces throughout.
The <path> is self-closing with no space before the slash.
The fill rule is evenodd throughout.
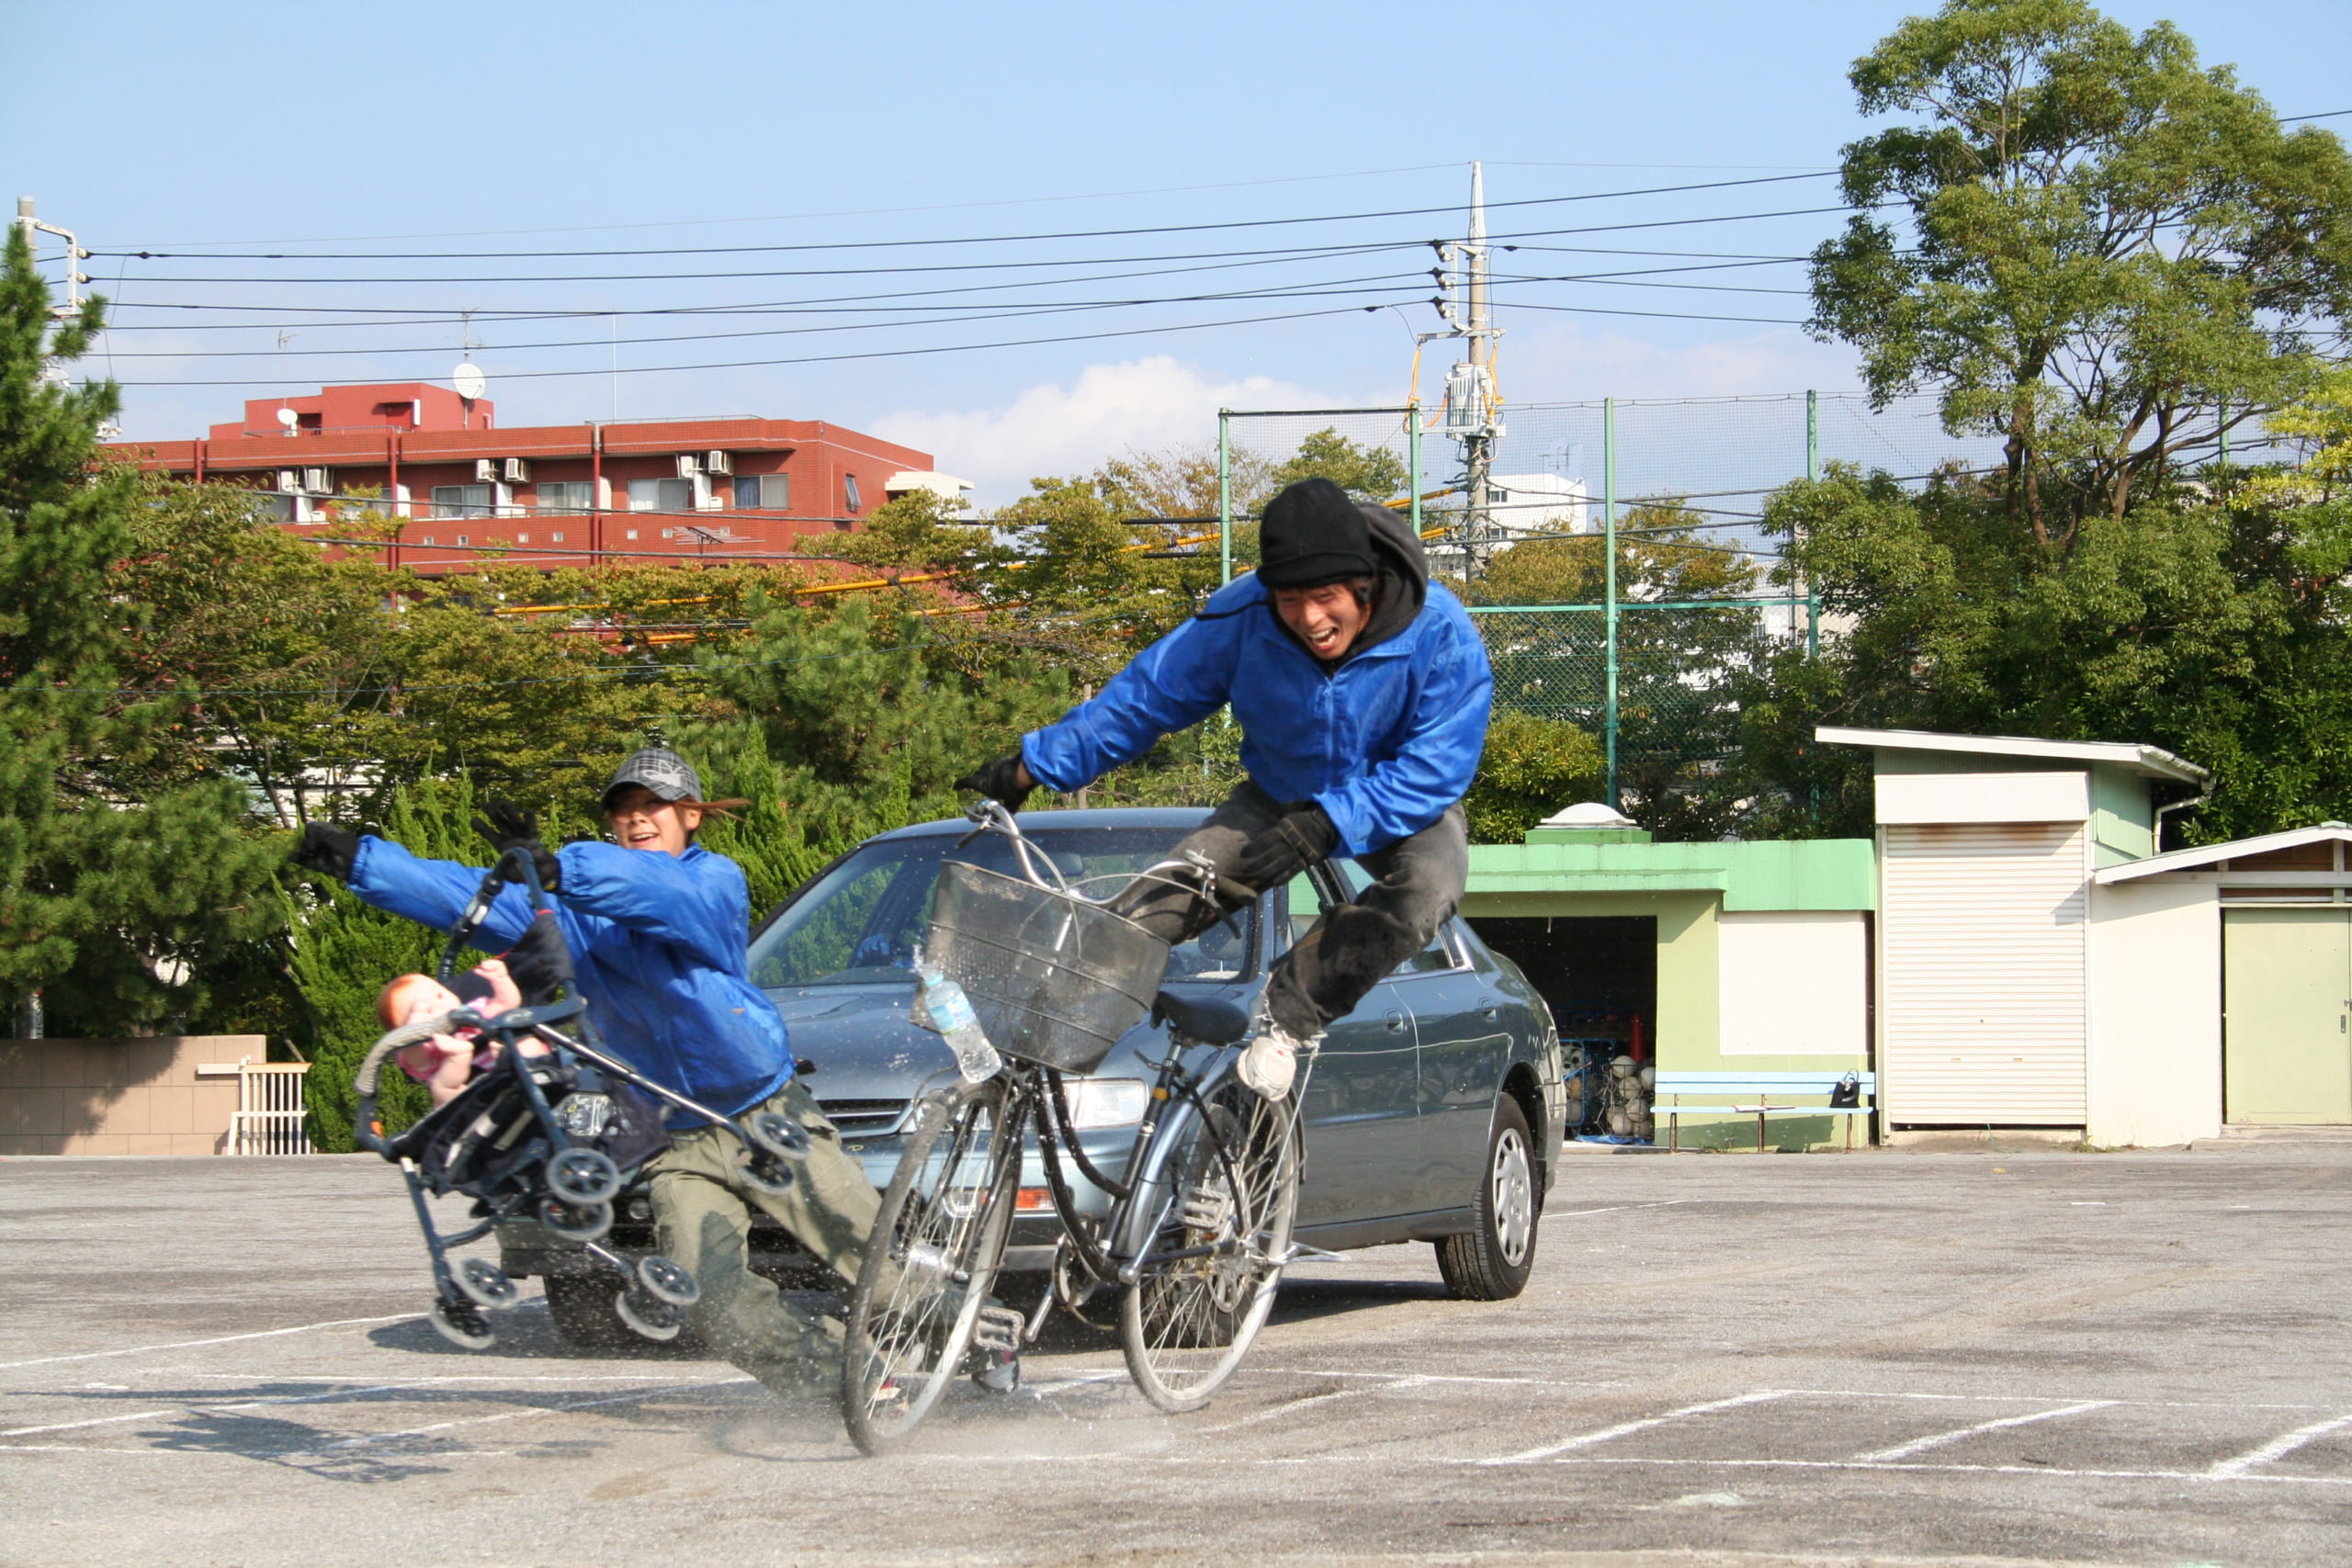
<path id="1" fill-rule="evenodd" d="M 2004 512 L 2046 548 L 2291 402 L 2347 317 L 2343 141 L 2281 129 L 2169 24 L 1947 0 L 1849 80 L 1917 120 L 1846 146 L 1811 327 L 1877 402 L 1936 388 L 1955 435 L 1999 437 Z"/>

